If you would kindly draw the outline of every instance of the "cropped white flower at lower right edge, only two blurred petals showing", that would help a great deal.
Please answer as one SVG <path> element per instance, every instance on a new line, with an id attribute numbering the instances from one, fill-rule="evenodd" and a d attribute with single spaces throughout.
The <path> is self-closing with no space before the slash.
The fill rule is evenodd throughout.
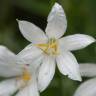
<path id="1" fill-rule="evenodd" d="M 96 96 L 96 64 L 80 64 L 81 75 L 95 77 L 82 83 L 77 88 L 74 96 Z"/>

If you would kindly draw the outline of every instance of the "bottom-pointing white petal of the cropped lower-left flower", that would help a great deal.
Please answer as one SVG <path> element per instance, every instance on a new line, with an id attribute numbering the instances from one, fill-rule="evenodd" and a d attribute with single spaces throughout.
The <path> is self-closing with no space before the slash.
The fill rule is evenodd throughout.
<path id="1" fill-rule="evenodd" d="M 29 82 L 29 84 L 20 90 L 16 96 L 39 96 L 36 78 L 32 77 L 32 80 Z"/>

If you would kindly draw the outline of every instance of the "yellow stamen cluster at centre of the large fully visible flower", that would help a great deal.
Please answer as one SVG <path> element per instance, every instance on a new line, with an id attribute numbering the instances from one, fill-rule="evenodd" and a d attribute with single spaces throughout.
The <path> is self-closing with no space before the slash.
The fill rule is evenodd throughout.
<path id="1" fill-rule="evenodd" d="M 58 55 L 58 42 L 56 39 L 50 39 L 47 44 L 37 44 L 41 50 L 48 55 Z"/>

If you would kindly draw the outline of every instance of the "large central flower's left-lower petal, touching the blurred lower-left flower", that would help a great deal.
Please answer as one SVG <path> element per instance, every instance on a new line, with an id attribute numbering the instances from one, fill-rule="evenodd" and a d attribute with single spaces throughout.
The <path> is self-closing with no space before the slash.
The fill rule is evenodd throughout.
<path id="1" fill-rule="evenodd" d="M 43 58 L 43 54 L 39 48 L 30 44 L 26 48 L 24 48 L 19 54 L 17 54 L 17 58 L 18 64 L 36 64 L 39 66 L 40 61 Z"/>

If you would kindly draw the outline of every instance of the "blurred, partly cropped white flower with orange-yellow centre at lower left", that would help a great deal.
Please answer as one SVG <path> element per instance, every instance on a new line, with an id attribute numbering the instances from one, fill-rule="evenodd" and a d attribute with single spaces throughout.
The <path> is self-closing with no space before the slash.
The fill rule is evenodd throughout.
<path id="1" fill-rule="evenodd" d="M 19 57 L 0 46 L 0 76 L 7 80 L 0 82 L 0 96 L 10 96 L 18 91 L 15 96 L 39 96 L 37 85 L 36 66 L 19 62 Z"/>

